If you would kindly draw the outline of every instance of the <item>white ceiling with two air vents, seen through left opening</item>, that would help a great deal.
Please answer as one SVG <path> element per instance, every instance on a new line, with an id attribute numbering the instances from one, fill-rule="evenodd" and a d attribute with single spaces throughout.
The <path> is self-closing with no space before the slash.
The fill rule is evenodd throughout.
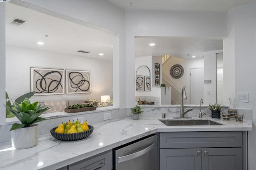
<path id="1" fill-rule="evenodd" d="M 20 26 L 9 24 L 14 18 L 26 22 Z M 37 45 L 38 41 L 45 44 Z M 112 60 L 113 56 L 113 35 L 11 3 L 6 3 L 6 44 L 96 59 Z"/>

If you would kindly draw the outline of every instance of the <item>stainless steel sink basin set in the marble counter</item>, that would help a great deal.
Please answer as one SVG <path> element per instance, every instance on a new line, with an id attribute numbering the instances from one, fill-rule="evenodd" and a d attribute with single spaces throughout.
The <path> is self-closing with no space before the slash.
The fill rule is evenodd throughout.
<path id="1" fill-rule="evenodd" d="M 208 126 L 222 125 L 211 120 L 160 120 L 166 126 Z"/>

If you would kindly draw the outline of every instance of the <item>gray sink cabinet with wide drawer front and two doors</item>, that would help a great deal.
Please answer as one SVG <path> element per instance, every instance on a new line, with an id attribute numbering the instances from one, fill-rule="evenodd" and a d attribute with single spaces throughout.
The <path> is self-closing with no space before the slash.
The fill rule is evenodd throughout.
<path id="1" fill-rule="evenodd" d="M 242 132 L 170 132 L 159 137 L 160 170 L 243 169 Z"/>

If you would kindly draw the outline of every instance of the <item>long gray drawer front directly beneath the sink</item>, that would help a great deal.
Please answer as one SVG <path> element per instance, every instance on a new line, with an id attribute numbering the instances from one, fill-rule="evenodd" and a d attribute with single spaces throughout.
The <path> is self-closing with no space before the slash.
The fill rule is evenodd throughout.
<path id="1" fill-rule="evenodd" d="M 242 132 L 162 132 L 160 148 L 242 147 Z"/>

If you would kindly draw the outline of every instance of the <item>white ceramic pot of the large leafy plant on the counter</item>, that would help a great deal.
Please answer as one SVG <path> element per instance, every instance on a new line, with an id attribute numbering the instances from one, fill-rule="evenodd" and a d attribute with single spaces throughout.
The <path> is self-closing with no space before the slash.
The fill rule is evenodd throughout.
<path id="1" fill-rule="evenodd" d="M 37 145 L 39 125 L 24 127 L 11 131 L 12 147 L 16 149 L 27 149 Z"/>

